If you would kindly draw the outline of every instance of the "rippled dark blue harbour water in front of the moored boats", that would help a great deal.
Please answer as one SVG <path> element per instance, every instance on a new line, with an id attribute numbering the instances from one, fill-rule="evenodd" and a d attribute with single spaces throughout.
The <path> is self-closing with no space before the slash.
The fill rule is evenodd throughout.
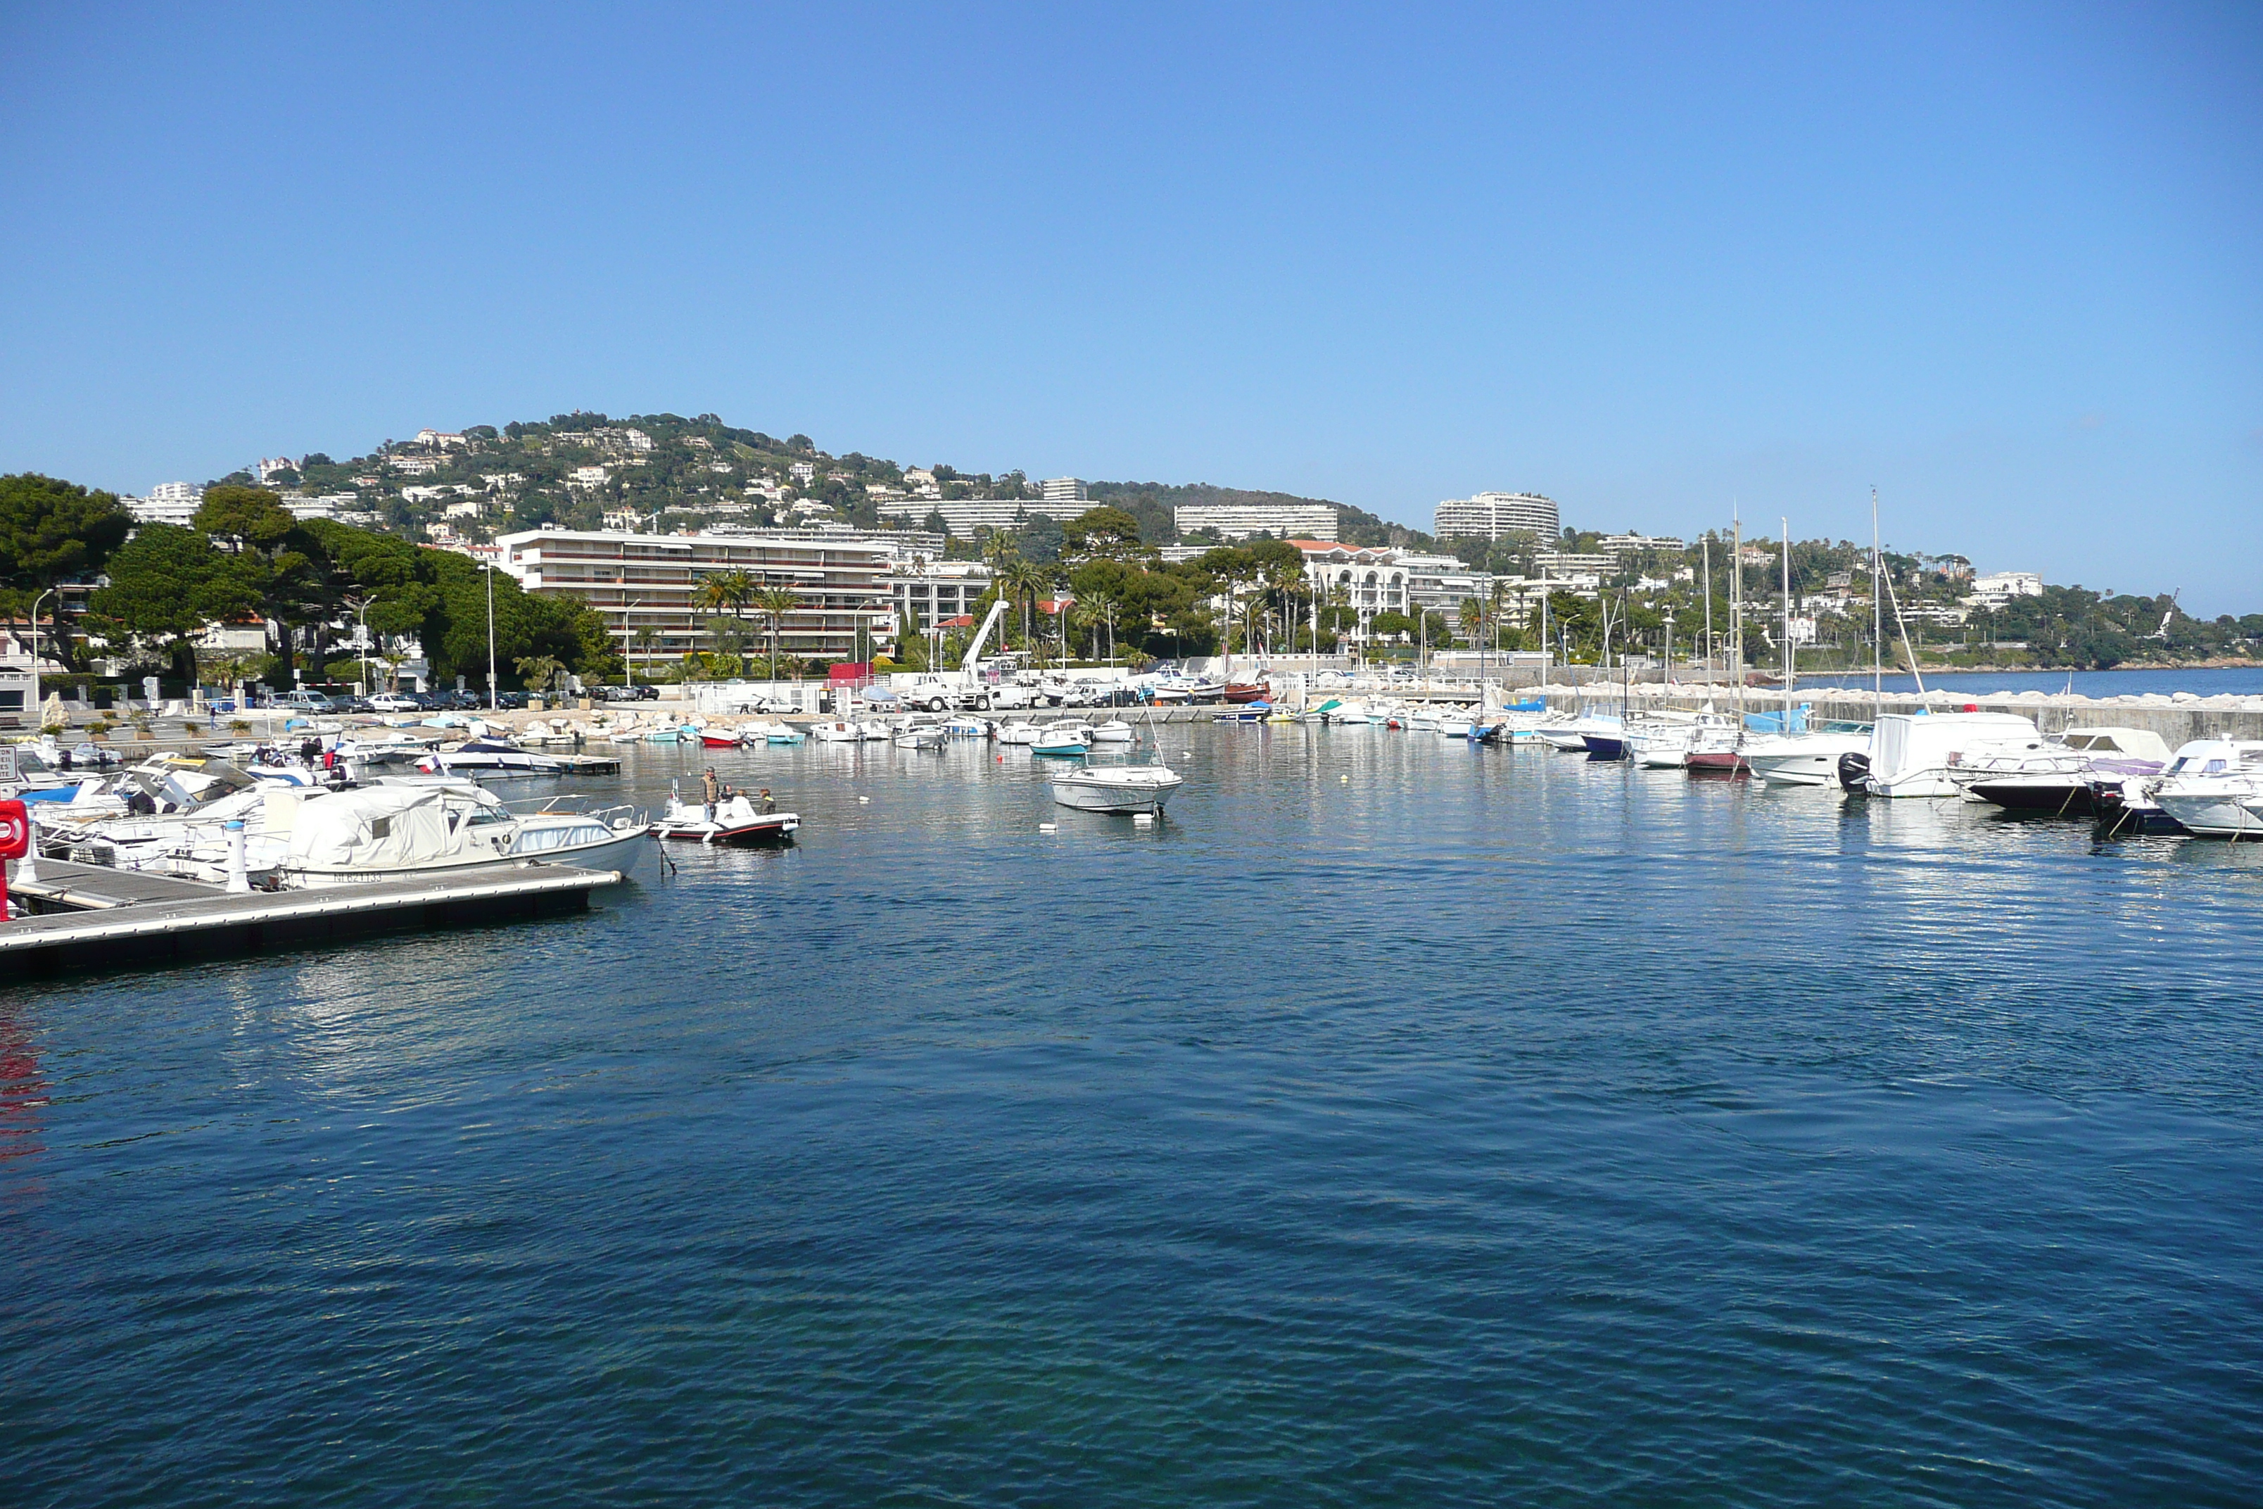
<path id="1" fill-rule="evenodd" d="M 2263 853 L 1168 742 L 0 986 L 9 1500 L 2256 1502 Z"/>

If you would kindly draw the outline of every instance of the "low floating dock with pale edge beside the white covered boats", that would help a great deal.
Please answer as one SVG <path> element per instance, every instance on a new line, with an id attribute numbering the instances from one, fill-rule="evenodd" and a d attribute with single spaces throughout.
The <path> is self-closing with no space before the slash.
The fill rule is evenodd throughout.
<path id="1" fill-rule="evenodd" d="M 0 923 L 0 977 L 113 971 L 220 955 L 319 948 L 378 932 L 430 932 L 586 912 L 620 871 L 570 864 L 473 869 L 310 891 L 220 891 L 195 880 L 41 860 L 9 878 L 34 916 Z"/>

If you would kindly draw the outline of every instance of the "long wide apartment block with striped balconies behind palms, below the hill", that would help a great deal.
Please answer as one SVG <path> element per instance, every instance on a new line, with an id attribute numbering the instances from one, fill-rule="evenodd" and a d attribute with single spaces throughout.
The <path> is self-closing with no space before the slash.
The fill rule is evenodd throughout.
<path id="1" fill-rule="evenodd" d="M 579 597 L 638 661 L 706 649 L 711 613 L 699 588 L 731 570 L 801 600 L 781 622 L 781 649 L 792 656 L 846 661 L 894 622 L 892 545 L 874 536 L 523 529 L 496 545 L 525 590 Z M 652 640 L 636 643 L 647 629 Z"/>

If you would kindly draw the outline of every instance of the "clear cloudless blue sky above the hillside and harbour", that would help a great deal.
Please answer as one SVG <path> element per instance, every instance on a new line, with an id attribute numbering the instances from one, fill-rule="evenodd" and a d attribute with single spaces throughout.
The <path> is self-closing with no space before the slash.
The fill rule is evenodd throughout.
<path id="1" fill-rule="evenodd" d="M 2263 609 L 2256 7 L 0 9 L 0 471 L 591 407 Z"/>

